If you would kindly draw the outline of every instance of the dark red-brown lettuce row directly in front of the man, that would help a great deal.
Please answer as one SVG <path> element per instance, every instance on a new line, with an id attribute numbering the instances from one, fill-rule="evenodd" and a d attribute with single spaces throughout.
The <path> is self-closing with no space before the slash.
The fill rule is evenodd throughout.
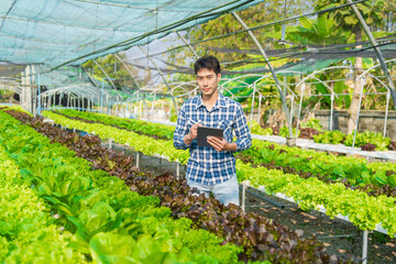
<path id="1" fill-rule="evenodd" d="M 9 113 L 16 114 L 15 112 Z M 79 156 L 88 157 L 87 152 L 100 145 L 100 139 L 98 138 L 96 138 L 96 141 L 94 140 L 95 142 L 91 142 L 92 136 L 78 136 L 68 131 L 61 131 L 58 128 L 44 124 L 30 117 L 19 117 L 19 119 L 28 125 L 35 128 L 37 132 L 46 134 L 52 141 L 61 142 L 72 148 L 87 145 L 79 141 L 88 140 L 89 147 L 79 147 L 81 148 L 81 153 L 77 153 Z M 55 131 L 59 134 L 56 134 L 57 132 Z M 111 155 L 108 156 L 110 157 Z M 90 161 L 90 163 L 92 166 L 96 166 L 96 160 Z M 105 166 L 103 169 L 109 170 L 110 174 L 119 174 L 127 168 L 118 168 L 118 163 L 116 162 L 108 163 L 113 164 L 113 166 Z M 133 170 L 133 173 L 135 174 L 136 172 Z M 162 206 L 170 208 L 174 218 L 189 218 L 193 220 L 193 227 L 204 228 L 220 238 L 224 238 L 228 242 L 242 246 L 244 251 L 239 254 L 241 260 L 248 261 L 254 256 L 253 260 L 263 260 L 264 257 L 264 260 L 270 260 L 273 263 L 288 263 L 288 260 L 292 258 L 294 262 L 304 263 L 304 260 L 307 260 L 307 257 L 308 260 L 320 257 L 324 263 L 329 261 L 326 253 L 318 252 L 321 249 L 320 244 L 302 239 L 298 232 L 289 231 L 256 215 L 244 215 L 238 207 L 223 207 L 213 198 L 187 195 L 189 188 L 184 179 L 176 179 L 169 175 L 160 176 L 160 178 L 153 178 L 147 175 L 132 175 L 131 170 L 119 174 L 119 177 L 124 179 L 130 189 L 141 195 L 157 196 Z M 206 213 L 202 213 L 204 211 Z M 268 234 L 271 235 L 268 237 Z M 297 241 L 297 248 L 292 245 L 295 243 L 294 241 Z M 275 244 L 283 244 L 284 246 L 272 249 Z M 300 255 L 302 252 L 306 253 Z M 306 255 L 307 252 L 308 255 Z"/>

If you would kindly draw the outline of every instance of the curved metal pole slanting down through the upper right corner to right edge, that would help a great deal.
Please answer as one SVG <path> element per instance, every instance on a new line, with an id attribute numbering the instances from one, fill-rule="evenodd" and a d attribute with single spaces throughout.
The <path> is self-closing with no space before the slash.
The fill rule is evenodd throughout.
<path id="1" fill-rule="evenodd" d="M 381 67 L 386 76 L 386 79 L 388 81 L 388 85 L 389 85 L 389 88 L 391 88 L 391 95 L 392 95 L 392 100 L 393 100 L 393 103 L 394 103 L 394 107 L 395 107 L 395 110 L 396 110 L 396 91 L 395 91 L 395 84 L 394 81 L 392 80 L 392 77 L 391 77 L 391 74 L 389 74 L 389 70 L 386 66 L 386 63 L 385 63 L 385 59 L 384 59 L 384 56 L 382 55 L 382 52 L 378 47 L 378 44 L 376 43 L 370 28 L 367 26 L 365 20 L 363 19 L 362 14 L 359 12 L 356 6 L 352 2 L 352 0 L 346 0 L 348 3 L 351 4 L 351 8 L 353 9 L 353 12 L 356 14 L 358 19 L 359 19 L 359 22 L 362 24 L 363 26 L 363 30 L 364 32 L 367 34 L 369 36 L 369 40 L 371 42 L 371 44 L 373 45 L 374 47 L 374 51 L 375 51 L 375 55 L 377 56 L 378 61 L 380 61 L 380 64 L 381 64 Z"/>

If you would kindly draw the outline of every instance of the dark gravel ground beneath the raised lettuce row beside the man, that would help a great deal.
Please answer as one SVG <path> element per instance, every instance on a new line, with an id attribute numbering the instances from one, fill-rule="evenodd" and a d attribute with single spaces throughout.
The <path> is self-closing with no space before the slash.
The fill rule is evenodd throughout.
<path id="1" fill-rule="evenodd" d="M 136 156 L 135 152 L 125 150 L 123 145 L 113 145 L 113 147 Z M 169 163 L 157 157 L 141 155 L 140 167 L 150 169 L 157 175 L 165 172 L 176 174 L 176 163 Z M 179 172 L 184 176 L 186 166 L 179 166 Z M 292 230 L 302 230 L 306 238 L 316 235 L 327 246 L 329 254 L 339 256 L 352 254 L 362 257 L 363 231 L 352 223 L 341 219 L 330 219 L 324 213 L 315 210 L 306 212 L 299 209 L 296 204 L 275 196 L 268 196 L 256 189 L 250 188 L 250 190 L 283 205 L 284 208 L 276 207 L 266 199 L 246 193 L 246 212 L 256 212 Z M 396 239 L 391 239 L 388 235 L 375 231 L 370 232 L 367 263 L 396 264 Z"/>

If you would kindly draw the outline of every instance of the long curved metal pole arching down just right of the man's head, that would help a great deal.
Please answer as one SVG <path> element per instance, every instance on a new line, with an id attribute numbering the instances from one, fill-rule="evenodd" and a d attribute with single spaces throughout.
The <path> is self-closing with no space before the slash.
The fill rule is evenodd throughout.
<path id="1" fill-rule="evenodd" d="M 235 13 L 235 12 L 232 12 L 232 14 L 235 16 L 235 19 L 239 21 L 239 23 L 245 29 L 248 30 L 248 33 L 249 35 L 252 37 L 254 44 L 258 47 L 258 51 L 260 53 L 263 55 L 266 64 L 268 65 L 268 68 L 271 70 L 271 74 L 276 82 L 276 86 L 278 88 L 278 92 L 280 95 L 280 100 L 282 100 L 282 103 L 284 106 L 284 110 L 285 110 L 285 114 L 286 114 L 286 122 L 287 122 L 287 127 L 289 129 L 289 138 L 293 138 L 293 130 L 292 130 L 292 123 L 290 123 L 290 118 L 289 118 L 289 111 L 288 111 L 288 108 L 287 108 L 287 103 L 286 103 L 286 99 L 285 99 L 285 96 L 282 91 L 282 85 L 275 74 L 275 70 L 274 68 L 272 67 L 271 63 L 270 63 L 270 59 L 264 51 L 264 48 L 261 46 L 260 42 L 257 41 L 257 38 L 254 36 L 253 32 L 249 29 L 249 26 L 243 22 L 243 20 Z M 395 105 L 396 106 L 396 105 Z"/>

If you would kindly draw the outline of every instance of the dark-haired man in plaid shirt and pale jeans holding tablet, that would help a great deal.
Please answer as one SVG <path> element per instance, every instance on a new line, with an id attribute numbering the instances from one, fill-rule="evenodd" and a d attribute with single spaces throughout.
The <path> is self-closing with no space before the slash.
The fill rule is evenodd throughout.
<path id="1" fill-rule="evenodd" d="M 185 101 L 180 108 L 174 134 L 174 146 L 189 148 L 187 184 L 200 193 L 210 194 L 226 206 L 239 206 L 239 187 L 235 174 L 234 152 L 249 148 L 252 138 L 239 102 L 224 97 L 218 90 L 221 79 L 219 61 L 213 56 L 199 58 L 194 70 L 201 95 Z M 197 128 L 200 125 L 223 129 L 223 139 L 209 136 L 212 147 L 197 145 Z M 232 142 L 234 131 L 237 141 Z"/>

